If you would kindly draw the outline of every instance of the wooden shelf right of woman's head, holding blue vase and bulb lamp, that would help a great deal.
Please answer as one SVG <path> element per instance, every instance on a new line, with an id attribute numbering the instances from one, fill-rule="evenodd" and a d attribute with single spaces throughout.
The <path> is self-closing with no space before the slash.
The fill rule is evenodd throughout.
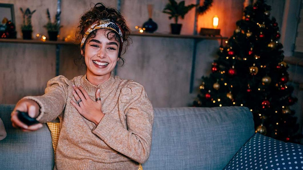
<path id="1" fill-rule="evenodd" d="M 201 36 L 201 35 L 176 35 L 176 34 L 160 34 L 160 33 L 132 33 L 131 36 L 143 36 L 143 37 L 167 37 L 167 38 L 190 38 L 190 39 L 207 39 L 207 40 L 217 40 L 217 39 L 228 39 L 228 37 L 211 37 L 211 36 Z"/>

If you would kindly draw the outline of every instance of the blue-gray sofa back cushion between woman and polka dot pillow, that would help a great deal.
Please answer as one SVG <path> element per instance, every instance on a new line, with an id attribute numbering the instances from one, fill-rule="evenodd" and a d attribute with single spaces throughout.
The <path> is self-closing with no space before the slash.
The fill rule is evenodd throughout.
<path id="1" fill-rule="evenodd" d="M 144 170 L 223 169 L 255 132 L 246 107 L 154 108 L 154 113 Z"/>

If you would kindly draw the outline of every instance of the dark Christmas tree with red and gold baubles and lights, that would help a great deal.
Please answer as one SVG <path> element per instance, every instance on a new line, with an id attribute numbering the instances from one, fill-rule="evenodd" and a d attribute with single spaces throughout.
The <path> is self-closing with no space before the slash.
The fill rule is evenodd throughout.
<path id="1" fill-rule="evenodd" d="M 299 125 L 290 105 L 297 101 L 287 85 L 288 65 L 271 7 L 264 0 L 245 8 L 234 34 L 218 50 L 195 107 L 244 106 L 254 116 L 255 130 L 266 136 L 298 143 Z"/>

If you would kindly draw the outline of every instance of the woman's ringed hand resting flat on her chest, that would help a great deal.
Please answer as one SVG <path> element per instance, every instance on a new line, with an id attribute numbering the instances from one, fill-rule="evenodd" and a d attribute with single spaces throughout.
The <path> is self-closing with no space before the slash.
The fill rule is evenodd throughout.
<path id="1" fill-rule="evenodd" d="M 84 90 L 84 88 L 79 85 L 78 87 L 73 85 L 73 89 L 74 90 L 72 93 L 78 104 L 75 103 L 75 101 L 71 100 L 72 105 L 75 106 L 75 108 L 83 117 L 98 125 L 104 116 L 104 113 L 102 112 L 101 101 L 93 101 L 89 97 L 88 93 Z M 100 89 L 96 91 L 96 98 L 100 98 Z"/>

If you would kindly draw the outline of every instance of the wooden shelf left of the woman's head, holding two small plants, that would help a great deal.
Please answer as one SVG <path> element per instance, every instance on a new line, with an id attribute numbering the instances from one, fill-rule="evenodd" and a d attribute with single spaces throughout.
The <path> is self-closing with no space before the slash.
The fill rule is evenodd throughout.
<path id="1" fill-rule="evenodd" d="M 0 38 L 0 43 L 29 43 L 29 44 L 70 44 L 70 45 L 75 45 L 74 42 L 72 41 L 41 41 L 41 40 L 37 40 L 37 39 L 33 39 L 33 40 L 23 40 L 23 39 L 8 39 L 8 38 Z"/>

